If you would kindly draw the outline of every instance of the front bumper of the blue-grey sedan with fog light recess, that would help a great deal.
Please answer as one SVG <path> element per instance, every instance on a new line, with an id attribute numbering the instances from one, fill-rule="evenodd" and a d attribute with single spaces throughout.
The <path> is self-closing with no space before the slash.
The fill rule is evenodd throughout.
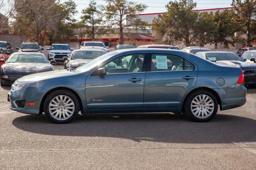
<path id="1" fill-rule="evenodd" d="M 46 89 L 43 88 L 27 88 L 24 90 L 11 91 L 8 93 L 8 101 L 10 101 L 10 109 L 25 114 L 40 114 L 40 99 Z M 25 99 L 26 103 L 23 108 L 16 105 L 15 101 Z M 36 105 L 27 105 L 27 103 L 36 103 Z"/>

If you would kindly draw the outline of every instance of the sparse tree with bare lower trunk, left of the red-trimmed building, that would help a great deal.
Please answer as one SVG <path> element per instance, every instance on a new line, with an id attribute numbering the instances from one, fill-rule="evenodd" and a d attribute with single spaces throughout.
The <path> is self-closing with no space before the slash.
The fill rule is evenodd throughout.
<path id="1" fill-rule="evenodd" d="M 120 44 L 124 44 L 124 28 L 146 28 L 147 23 L 142 22 L 138 17 L 136 17 L 136 14 L 142 13 L 147 8 L 146 4 L 137 4 L 130 0 L 105 1 L 106 22 L 108 25 L 117 26 L 119 28 Z"/>

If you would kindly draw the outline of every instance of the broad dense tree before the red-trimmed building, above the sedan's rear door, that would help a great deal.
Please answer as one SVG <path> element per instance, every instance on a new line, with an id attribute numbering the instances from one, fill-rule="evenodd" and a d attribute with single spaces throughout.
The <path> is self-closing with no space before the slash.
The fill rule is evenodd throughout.
<path id="1" fill-rule="evenodd" d="M 166 8 L 167 12 L 153 21 L 153 29 L 160 35 L 166 34 L 168 38 L 190 46 L 200 33 L 198 12 L 193 11 L 196 3 L 193 0 L 175 0 L 169 2 Z"/>

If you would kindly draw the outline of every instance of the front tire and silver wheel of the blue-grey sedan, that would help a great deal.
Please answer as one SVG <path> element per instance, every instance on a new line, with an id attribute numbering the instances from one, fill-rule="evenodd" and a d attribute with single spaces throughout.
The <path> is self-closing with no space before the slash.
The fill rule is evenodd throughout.
<path id="1" fill-rule="evenodd" d="M 54 123 L 71 122 L 76 118 L 79 110 L 79 101 L 76 95 L 67 90 L 50 93 L 44 102 L 44 113 Z"/>

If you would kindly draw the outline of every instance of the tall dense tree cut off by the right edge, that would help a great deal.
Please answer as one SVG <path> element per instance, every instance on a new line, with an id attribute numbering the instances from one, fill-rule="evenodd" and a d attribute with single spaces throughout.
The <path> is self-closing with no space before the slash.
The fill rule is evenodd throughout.
<path id="1" fill-rule="evenodd" d="M 246 42 L 248 47 L 252 46 L 252 41 L 256 40 L 256 0 L 233 0 L 234 20 L 240 30 L 237 32 L 236 41 Z M 246 35 L 246 38 L 242 38 Z"/>

